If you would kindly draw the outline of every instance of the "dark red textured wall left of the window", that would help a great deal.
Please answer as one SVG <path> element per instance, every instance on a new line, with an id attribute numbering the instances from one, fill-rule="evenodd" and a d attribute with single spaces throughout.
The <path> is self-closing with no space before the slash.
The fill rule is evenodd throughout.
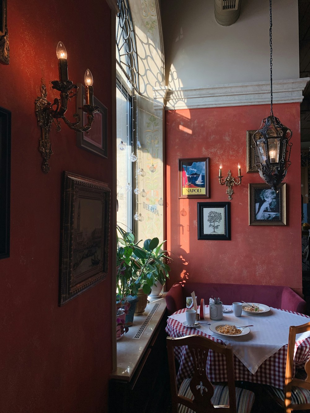
<path id="1" fill-rule="evenodd" d="M 10 64 L 0 64 L 0 106 L 12 112 L 11 242 L 10 258 L 0 260 L 0 411 L 107 411 L 111 266 L 105 281 L 62 308 L 58 280 L 62 171 L 112 184 L 110 9 L 100 0 L 7 4 Z M 57 96 L 48 83 L 58 78 L 59 40 L 69 78 L 83 83 L 88 67 L 94 94 L 107 107 L 109 158 L 78 148 L 62 122 L 60 133 L 52 126 L 45 175 L 34 101 L 41 78 L 49 100 Z"/>

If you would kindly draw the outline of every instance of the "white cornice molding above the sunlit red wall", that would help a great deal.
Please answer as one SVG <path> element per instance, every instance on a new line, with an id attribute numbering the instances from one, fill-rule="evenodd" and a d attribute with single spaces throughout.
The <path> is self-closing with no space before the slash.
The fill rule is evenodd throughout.
<path id="1" fill-rule="evenodd" d="M 303 90 L 309 80 L 310 78 L 300 78 L 273 81 L 273 103 L 302 102 Z M 164 90 L 166 110 L 270 104 L 270 82 L 231 83 L 199 89 L 154 88 L 154 107 L 155 99 L 159 103 Z"/>

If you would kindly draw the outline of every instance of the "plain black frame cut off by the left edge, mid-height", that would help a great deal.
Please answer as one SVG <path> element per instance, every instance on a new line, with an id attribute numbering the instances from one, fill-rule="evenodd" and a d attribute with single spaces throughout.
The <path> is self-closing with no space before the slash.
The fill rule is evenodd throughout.
<path id="1" fill-rule="evenodd" d="M 0 259 L 10 256 L 11 112 L 0 107 Z"/>

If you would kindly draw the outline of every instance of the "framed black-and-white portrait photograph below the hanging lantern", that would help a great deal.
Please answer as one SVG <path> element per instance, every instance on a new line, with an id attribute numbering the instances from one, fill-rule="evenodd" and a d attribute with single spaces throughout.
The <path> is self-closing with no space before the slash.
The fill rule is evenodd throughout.
<path id="1" fill-rule="evenodd" d="M 286 225 L 286 184 L 249 183 L 249 225 Z"/>

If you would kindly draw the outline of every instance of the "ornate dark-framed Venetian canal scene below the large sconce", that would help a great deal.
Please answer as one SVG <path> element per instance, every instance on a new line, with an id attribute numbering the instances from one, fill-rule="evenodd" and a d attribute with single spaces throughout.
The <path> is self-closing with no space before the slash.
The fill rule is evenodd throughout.
<path id="1" fill-rule="evenodd" d="M 110 189 L 107 184 L 63 173 L 59 305 L 107 276 Z"/>

